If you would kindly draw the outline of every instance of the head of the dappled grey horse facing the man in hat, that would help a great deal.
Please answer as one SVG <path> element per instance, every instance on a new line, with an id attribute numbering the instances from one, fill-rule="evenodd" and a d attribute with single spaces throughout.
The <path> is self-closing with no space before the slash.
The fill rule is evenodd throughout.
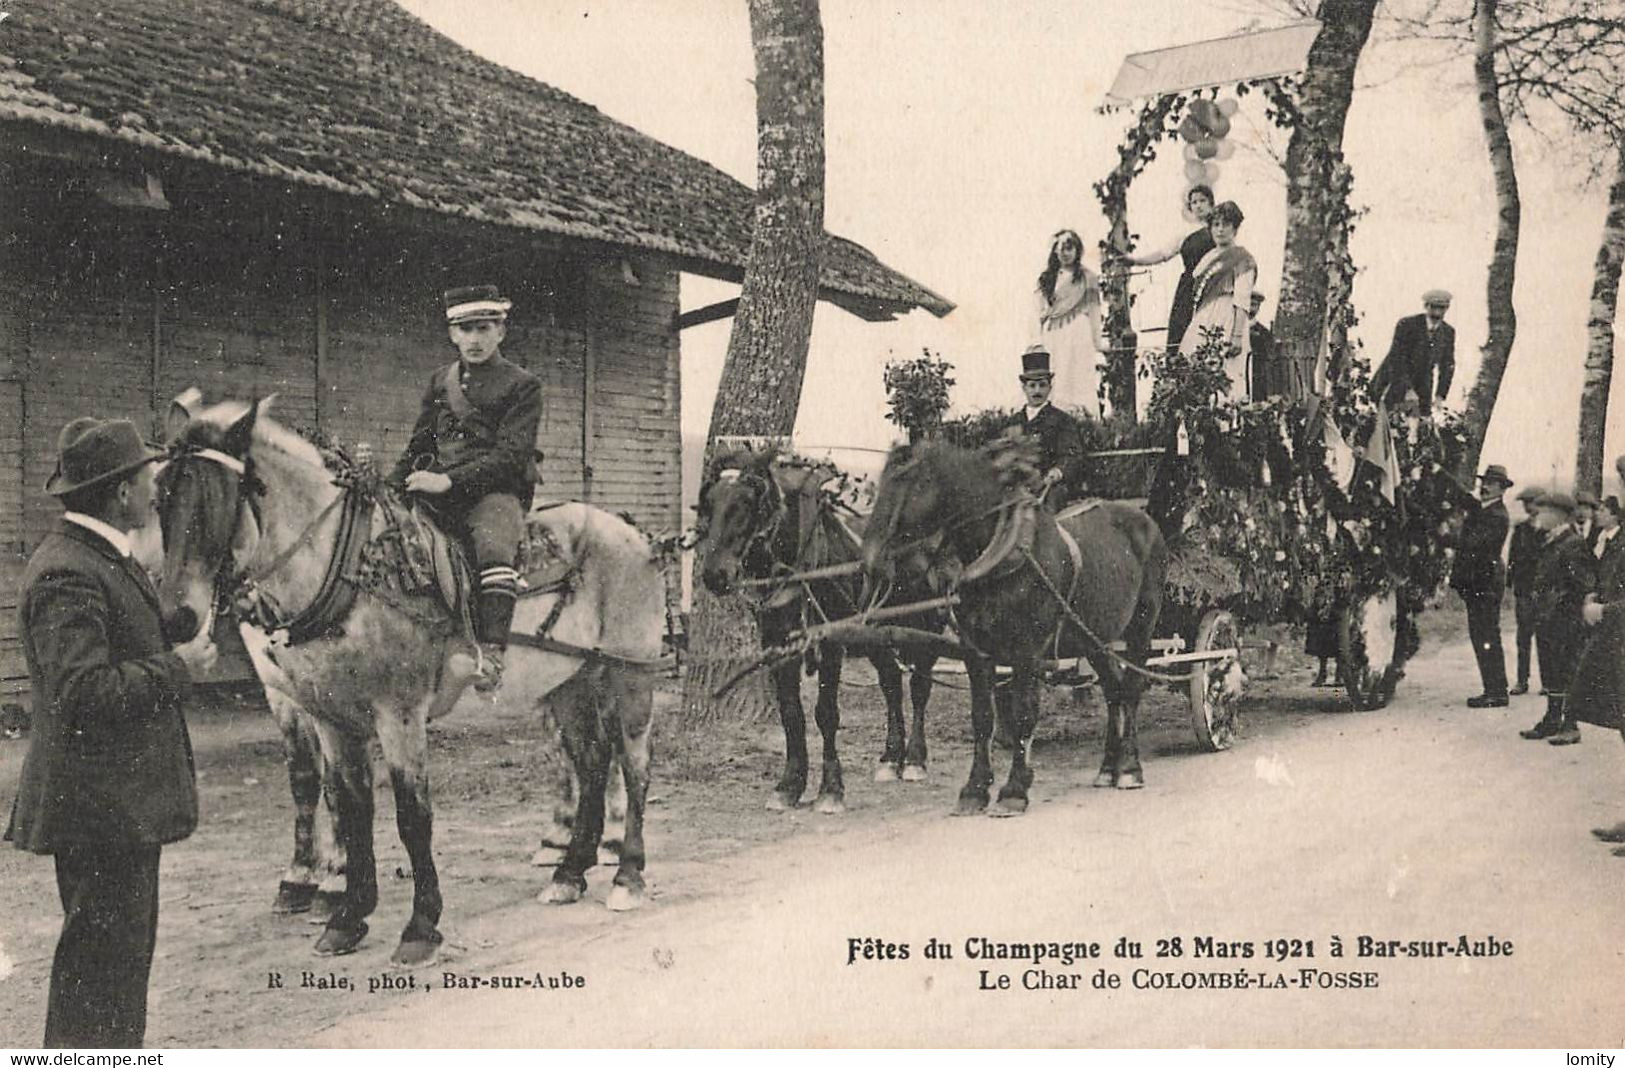
<path id="1" fill-rule="evenodd" d="M 258 536 L 252 442 L 255 421 L 271 403 L 216 405 L 197 415 L 198 397 L 188 393 L 171 410 L 169 457 L 158 473 L 159 608 L 172 637 L 190 637 L 200 621 L 210 626 L 221 574 Z"/>

